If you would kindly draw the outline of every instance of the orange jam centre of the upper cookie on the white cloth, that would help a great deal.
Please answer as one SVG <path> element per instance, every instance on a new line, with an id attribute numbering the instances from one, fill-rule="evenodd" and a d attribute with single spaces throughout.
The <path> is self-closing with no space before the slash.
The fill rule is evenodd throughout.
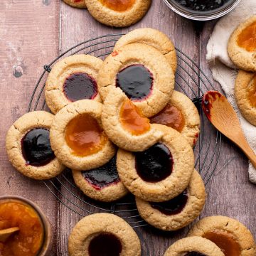
<path id="1" fill-rule="evenodd" d="M 238 46 L 249 52 L 256 50 L 256 21 L 247 26 L 238 36 Z"/>

